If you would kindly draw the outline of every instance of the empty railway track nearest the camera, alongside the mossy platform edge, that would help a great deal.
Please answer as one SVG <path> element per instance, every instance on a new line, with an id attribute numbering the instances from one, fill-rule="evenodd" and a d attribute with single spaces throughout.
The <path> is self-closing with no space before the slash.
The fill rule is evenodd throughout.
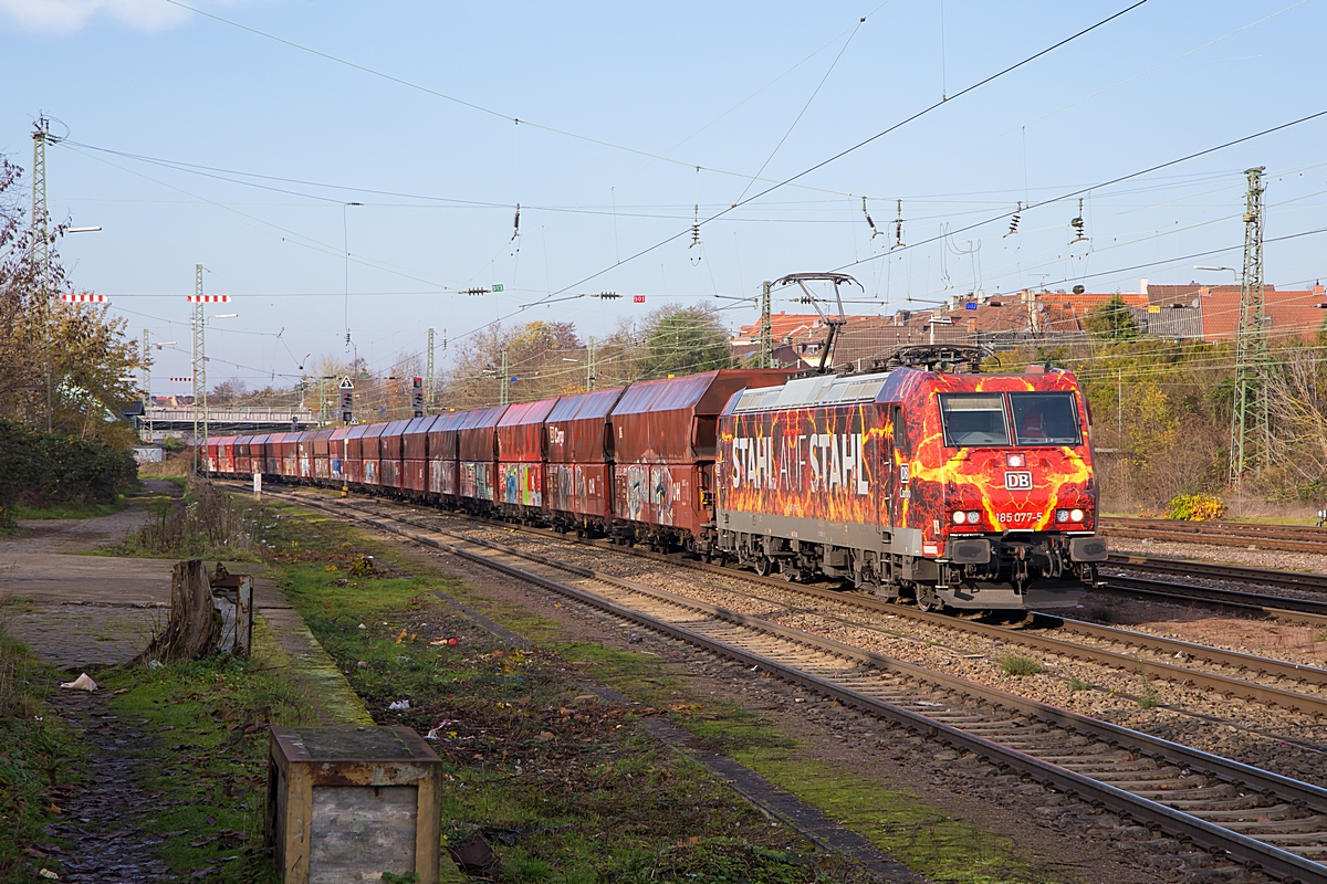
<path id="1" fill-rule="evenodd" d="M 1316 786 L 545 555 L 296 500 L 758 667 L 1270 876 L 1327 883 Z"/>

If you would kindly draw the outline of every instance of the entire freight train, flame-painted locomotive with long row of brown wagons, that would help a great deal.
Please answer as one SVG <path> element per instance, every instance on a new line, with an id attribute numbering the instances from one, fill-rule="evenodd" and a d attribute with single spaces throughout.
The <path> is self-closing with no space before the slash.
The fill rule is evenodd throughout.
<path id="1" fill-rule="evenodd" d="M 914 354 L 916 355 L 916 354 Z M 1067 371 L 735 368 L 210 439 L 214 476 L 350 488 L 922 610 L 1072 607 L 1107 557 Z"/>

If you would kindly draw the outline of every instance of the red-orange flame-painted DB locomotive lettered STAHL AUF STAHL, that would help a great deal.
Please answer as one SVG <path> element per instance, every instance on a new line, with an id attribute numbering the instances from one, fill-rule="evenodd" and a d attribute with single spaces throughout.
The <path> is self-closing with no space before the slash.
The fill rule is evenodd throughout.
<path id="1" fill-rule="evenodd" d="M 746 390 L 719 419 L 718 547 L 925 608 L 1076 604 L 1096 485 L 1074 375 L 893 368 Z"/>

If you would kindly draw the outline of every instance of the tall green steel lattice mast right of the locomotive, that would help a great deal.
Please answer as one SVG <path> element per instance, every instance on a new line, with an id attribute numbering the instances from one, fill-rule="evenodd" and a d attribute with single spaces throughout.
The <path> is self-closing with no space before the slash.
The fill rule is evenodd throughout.
<path id="1" fill-rule="evenodd" d="M 1262 183 L 1265 166 L 1245 171 L 1245 261 L 1239 280 L 1239 329 L 1235 333 L 1235 398 L 1230 414 L 1230 488 L 1238 488 L 1257 451 L 1257 469 L 1271 451 L 1267 400 L 1267 326 L 1262 300 Z"/>

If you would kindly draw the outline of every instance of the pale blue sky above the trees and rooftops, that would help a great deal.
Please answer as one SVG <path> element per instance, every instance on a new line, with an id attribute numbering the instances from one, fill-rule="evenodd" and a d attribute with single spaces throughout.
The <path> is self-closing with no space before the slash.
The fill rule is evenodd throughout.
<path id="1" fill-rule="evenodd" d="M 49 212 L 102 228 L 65 266 L 178 342 L 158 395 L 199 264 L 208 379 L 249 387 L 429 329 L 439 370 L 498 321 L 735 329 L 798 272 L 855 314 L 1230 282 L 1194 265 L 1241 264 L 1253 166 L 1267 282 L 1327 277 L 1327 115 L 1174 163 L 1327 111 L 1323 1 L 1135 3 L 0 0 L 0 152 L 50 118 Z"/>

